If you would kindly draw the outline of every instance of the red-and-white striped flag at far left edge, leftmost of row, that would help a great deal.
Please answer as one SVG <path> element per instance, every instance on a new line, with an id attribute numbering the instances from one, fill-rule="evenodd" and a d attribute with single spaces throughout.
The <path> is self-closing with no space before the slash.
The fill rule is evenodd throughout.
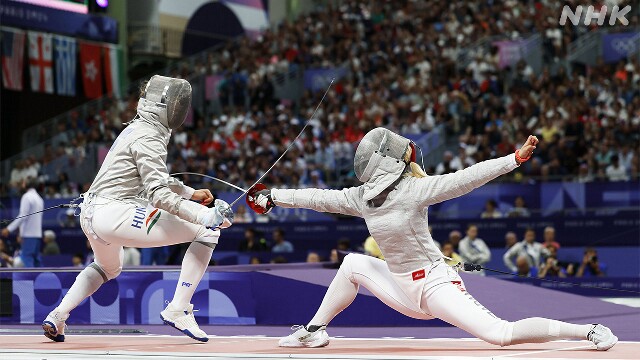
<path id="1" fill-rule="evenodd" d="M 22 30 L 2 29 L 2 86 L 5 89 L 22 91 L 24 38 Z"/>

